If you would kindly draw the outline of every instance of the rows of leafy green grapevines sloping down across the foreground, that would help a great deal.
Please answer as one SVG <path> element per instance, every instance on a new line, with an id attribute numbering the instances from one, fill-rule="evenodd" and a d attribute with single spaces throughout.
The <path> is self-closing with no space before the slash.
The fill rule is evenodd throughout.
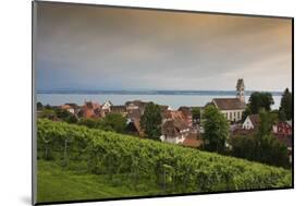
<path id="1" fill-rule="evenodd" d="M 292 186 L 292 171 L 282 168 L 44 119 L 37 149 L 38 160 L 159 194 Z"/>

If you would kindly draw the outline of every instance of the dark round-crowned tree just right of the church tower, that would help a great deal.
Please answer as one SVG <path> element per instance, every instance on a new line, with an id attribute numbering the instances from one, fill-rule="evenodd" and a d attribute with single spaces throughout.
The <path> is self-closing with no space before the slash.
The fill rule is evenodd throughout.
<path id="1" fill-rule="evenodd" d="M 255 92 L 252 93 L 248 107 L 252 113 L 258 113 L 260 109 L 265 109 L 266 111 L 271 110 L 271 105 L 274 104 L 271 93 L 261 93 Z"/>

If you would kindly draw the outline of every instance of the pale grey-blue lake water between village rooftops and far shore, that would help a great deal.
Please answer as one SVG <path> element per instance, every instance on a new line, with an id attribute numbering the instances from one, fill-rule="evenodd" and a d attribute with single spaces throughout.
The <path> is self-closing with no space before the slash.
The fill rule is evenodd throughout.
<path id="1" fill-rule="evenodd" d="M 233 95 L 122 95 L 122 94 L 37 94 L 36 99 L 42 105 L 59 106 L 66 102 L 84 105 L 84 101 L 95 101 L 103 104 L 110 100 L 114 105 L 124 105 L 128 100 L 154 101 L 159 105 L 168 105 L 172 109 L 178 109 L 181 106 L 205 106 L 213 98 L 234 97 Z M 249 96 L 245 100 L 248 101 Z M 273 95 L 274 105 L 272 109 L 278 109 L 280 106 L 281 96 Z"/>

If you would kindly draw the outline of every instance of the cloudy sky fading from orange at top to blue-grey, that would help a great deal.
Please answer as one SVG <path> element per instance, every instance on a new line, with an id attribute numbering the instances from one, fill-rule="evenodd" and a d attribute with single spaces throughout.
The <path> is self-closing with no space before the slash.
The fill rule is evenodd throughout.
<path id="1" fill-rule="evenodd" d="M 284 90 L 292 22 L 37 3 L 36 88 Z"/>

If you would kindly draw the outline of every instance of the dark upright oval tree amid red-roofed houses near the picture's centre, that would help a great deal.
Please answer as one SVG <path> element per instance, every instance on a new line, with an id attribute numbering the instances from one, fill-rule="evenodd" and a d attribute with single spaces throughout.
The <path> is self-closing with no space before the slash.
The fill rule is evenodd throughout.
<path id="1" fill-rule="evenodd" d="M 149 102 L 140 118 L 140 126 L 148 138 L 159 140 L 161 135 L 161 111 L 158 105 Z"/>

